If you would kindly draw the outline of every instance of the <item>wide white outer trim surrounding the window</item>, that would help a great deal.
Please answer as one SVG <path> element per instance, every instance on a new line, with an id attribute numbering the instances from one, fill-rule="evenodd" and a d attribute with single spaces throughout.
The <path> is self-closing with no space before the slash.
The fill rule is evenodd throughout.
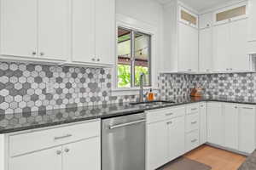
<path id="1" fill-rule="evenodd" d="M 125 16 L 124 14 L 116 14 L 116 35 L 115 40 L 117 40 L 118 37 L 118 28 L 128 28 L 134 31 L 143 32 L 148 35 L 151 35 L 151 87 L 145 87 L 145 90 L 149 90 L 152 88 L 153 90 L 158 90 L 158 73 L 159 71 L 156 70 L 157 63 L 159 61 L 159 58 L 156 58 L 156 56 L 159 56 L 160 53 L 158 52 L 156 54 L 156 49 L 160 48 L 160 31 L 158 26 L 154 26 L 151 24 L 148 24 L 146 22 L 143 22 L 142 20 L 137 20 L 134 18 L 131 18 L 129 16 Z M 137 91 L 139 90 L 139 87 L 134 88 L 118 88 L 118 41 L 116 43 L 116 54 L 115 54 L 115 65 L 112 69 L 112 94 L 119 96 L 119 95 L 136 95 Z"/>

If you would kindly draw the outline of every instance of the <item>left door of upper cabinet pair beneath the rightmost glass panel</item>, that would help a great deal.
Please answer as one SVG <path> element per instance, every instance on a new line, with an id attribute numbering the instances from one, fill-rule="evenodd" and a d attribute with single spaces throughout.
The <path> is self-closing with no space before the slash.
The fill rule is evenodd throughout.
<path id="1" fill-rule="evenodd" d="M 230 71 L 230 25 L 213 27 L 213 70 Z"/>

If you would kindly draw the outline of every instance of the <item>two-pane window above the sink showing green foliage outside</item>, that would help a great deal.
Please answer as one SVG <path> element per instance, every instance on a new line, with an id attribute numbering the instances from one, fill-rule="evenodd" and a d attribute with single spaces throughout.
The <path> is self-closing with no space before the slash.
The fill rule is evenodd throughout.
<path id="1" fill-rule="evenodd" d="M 135 88 L 145 74 L 145 87 L 151 86 L 151 36 L 119 27 L 118 30 L 118 88 Z"/>

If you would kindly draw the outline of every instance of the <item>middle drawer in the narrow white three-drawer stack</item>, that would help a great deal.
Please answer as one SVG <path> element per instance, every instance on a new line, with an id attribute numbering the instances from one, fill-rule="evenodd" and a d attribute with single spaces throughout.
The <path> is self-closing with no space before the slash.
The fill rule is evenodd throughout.
<path id="1" fill-rule="evenodd" d="M 199 113 L 186 116 L 186 132 L 189 133 L 199 129 Z"/>

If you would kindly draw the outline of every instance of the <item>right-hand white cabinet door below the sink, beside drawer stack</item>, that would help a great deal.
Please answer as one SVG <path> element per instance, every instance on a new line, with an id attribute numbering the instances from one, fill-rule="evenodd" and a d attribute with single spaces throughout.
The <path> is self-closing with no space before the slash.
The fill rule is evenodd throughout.
<path id="1" fill-rule="evenodd" d="M 185 117 L 173 118 L 166 123 L 168 126 L 168 161 L 172 161 L 185 152 Z"/>

